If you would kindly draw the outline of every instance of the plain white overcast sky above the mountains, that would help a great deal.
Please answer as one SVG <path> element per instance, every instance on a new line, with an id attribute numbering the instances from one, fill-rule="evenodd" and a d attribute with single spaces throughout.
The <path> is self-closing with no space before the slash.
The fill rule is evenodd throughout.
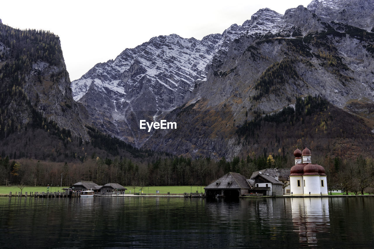
<path id="1" fill-rule="evenodd" d="M 70 80 L 98 62 L 116 58 L 126 48 L 151 37 L 184 38 L 222 33 L 243 24 L 261 8 L 284 14 L 312 0 L 64 0 L 2 1 L 0 19 L 13 28 L 49 30 L 61 40 Z"/>

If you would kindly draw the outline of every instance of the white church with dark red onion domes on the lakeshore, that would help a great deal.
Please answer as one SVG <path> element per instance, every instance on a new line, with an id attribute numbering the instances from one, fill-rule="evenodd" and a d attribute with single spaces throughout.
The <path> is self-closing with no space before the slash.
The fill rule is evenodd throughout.
<path id="1" fill-rule="evenodd" d="M 294 151 L 295 165 L 289 175 L 293 196 L 327 196 L 327 175 L 321 165 L 312 164 L 310 150 Z"/>

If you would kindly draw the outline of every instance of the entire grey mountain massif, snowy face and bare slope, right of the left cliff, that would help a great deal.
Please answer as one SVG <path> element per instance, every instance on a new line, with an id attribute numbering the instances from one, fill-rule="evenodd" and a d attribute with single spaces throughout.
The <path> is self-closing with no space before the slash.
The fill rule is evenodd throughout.
<path id="1" fill-rule="evenodd" d="M 154 37 L 72 82 L 74 99 L 101 130 L 193 157 L 258 150 L 240 140 L 238 127 L 299 96 L 321 95 L 372 128 L 373 13 L 373 1 L 313 0 L 284 15 L 261 9 L 202 41 Z M 143 132 L 140 119 L 174 121 L 178 129 Z"/>

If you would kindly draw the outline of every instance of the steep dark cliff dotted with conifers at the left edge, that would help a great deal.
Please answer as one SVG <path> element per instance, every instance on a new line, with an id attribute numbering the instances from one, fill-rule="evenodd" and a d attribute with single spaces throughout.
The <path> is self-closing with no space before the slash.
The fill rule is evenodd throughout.
<path id="1" fill-rule="evenodd" d="M 73 100 L 54 34 L 13 29 L 0 20 L 0 82 L 2 137 L 34 126 L 37 112 L 46 123 L 53 120 L 72 135 L 88 139 L 80 117 L 85 111 Z"/>

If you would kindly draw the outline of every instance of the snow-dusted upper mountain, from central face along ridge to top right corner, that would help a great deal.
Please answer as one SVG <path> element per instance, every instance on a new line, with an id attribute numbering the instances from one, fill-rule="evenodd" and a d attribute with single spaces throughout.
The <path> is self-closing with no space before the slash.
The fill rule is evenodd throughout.
<path id="1" fill-rule="evenodd" d="M 240 43 L 249 36 L 261 39 L 269 34 L 289 38 L 306 35 L 323 30 L 322 21 L 370 30 L 373 2 L 313 0 L 307 8 L 300 5 L 284 15 L 260 9 L 242 25 L 233 24 L 222 34 L 210 34 L 202 40 L 177 34 L 152 37 L 123 50 L 114 60 L 96 64 L 71 82 L 73 96 L 88 109 L 96 127 L 141 146 L 152 134 L 134 133 L 139 130 L 139 120 L 154 121 L 160 114 L 183 105 L 194 94 L 194 87 L 206 82 L 208 70 L 219 68 L 227 60 L 233 41 Z"/>

